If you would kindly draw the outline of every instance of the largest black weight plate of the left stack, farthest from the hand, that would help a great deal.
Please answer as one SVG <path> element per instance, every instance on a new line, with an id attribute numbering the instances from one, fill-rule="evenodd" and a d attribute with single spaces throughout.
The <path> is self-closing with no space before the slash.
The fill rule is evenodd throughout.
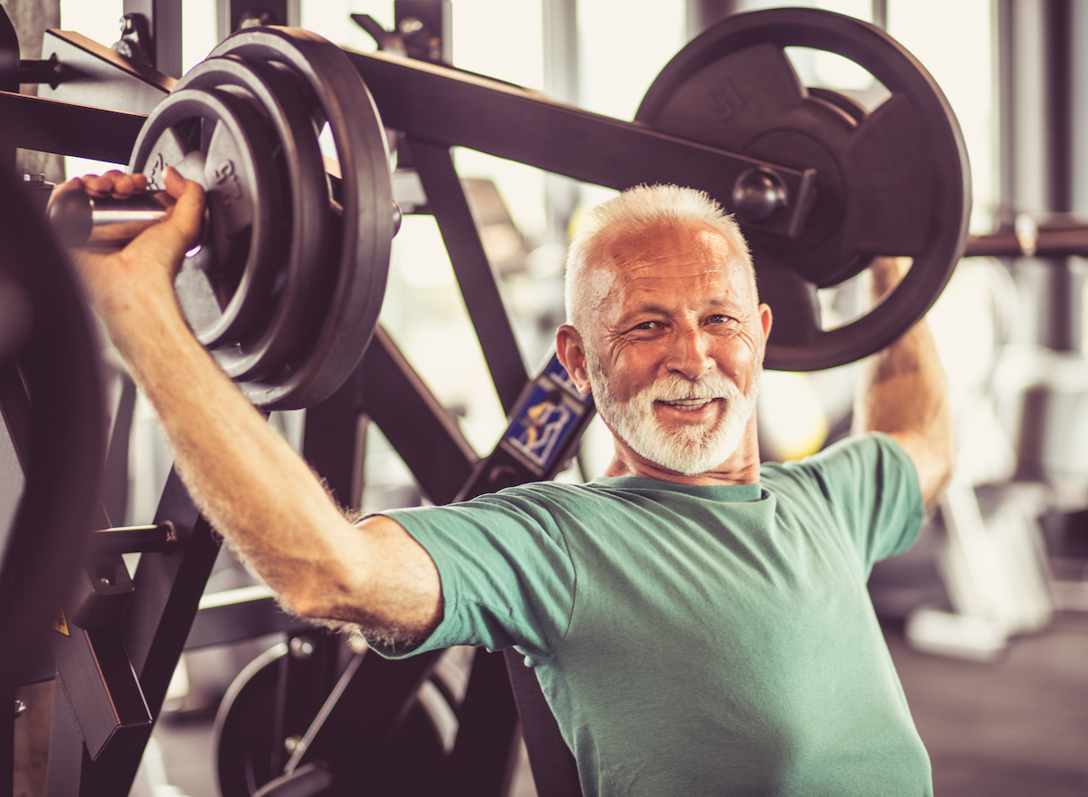
<path id="1" fill-rule="evenodd" d="M 274 26 L 239 30 L 211 52 L 284 64 L 316 100 L 312 118 L 327 120 L 343 180 L 330 198 L 334 237 L 326 267 L 331 294 L 311 317 L 318 327 L 305 352 L 282 372 L 242 384 L 255 404 L 277 409 L 317 404 L 336 391 L 370 342 L 385 294 L 393 241 L 393 194 L 385 130 L 347 56 L 306 30 Z M 331 191 L 331 189 L 330 189 Z"/>

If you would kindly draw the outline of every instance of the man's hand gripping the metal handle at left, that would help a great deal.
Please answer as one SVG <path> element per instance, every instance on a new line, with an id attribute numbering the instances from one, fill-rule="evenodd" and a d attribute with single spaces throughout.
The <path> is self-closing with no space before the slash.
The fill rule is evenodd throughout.
<path id="1" fill-rule="evenodd" d="M 168 212 L 162 219 L 96 228 L 86 246 L 72 250 L 84 287 L 107 327 L 134 303 L 174 302 L 174 277 L 200 234 L 203 188 L 172 167 L 166 169 L 165 185 L 160 197 Z M 146 189 L 145 175 L 111 171 L 70 180 L 53 192 L 50 204 L 70 191 L 126 198 Z"/>

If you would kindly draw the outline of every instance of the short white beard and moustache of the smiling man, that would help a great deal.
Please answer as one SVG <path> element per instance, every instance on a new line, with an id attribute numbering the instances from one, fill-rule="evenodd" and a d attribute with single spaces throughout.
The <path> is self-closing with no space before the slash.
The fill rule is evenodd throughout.
<path id="1" fill-rule="evenodd" d="M 586 360 L 593 380 L 593 400 L 601 417 L 640 456 L 684 476 L 705 474 L 728 459 L 740 445 L 755 409 L 758 380 L 753 382 L 745 395 L 718 373 L 707 375 L 695 382 L 673 373 L 621 403 L 613 393 L 599 360 L 589 352 Z M 655 401 L 691 398 L 725 400 L 726 412 L 710 428 L 665 428 L 657 420 Z"/>

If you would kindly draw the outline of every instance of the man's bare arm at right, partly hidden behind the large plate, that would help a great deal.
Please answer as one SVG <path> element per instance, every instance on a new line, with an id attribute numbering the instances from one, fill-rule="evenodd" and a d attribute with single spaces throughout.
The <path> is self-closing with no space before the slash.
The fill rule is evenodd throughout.
<path id="1" fill-rule="evenodd" d="M 908 265 L 903 258 L 874 262 L 874 303 L 898 284 Z M 894 438 L 914 461 L 926 507 L 934 507 L 952 475 L 955 445 L 944 370 L 925 319 L 865 363 L 854 431 Z"/>

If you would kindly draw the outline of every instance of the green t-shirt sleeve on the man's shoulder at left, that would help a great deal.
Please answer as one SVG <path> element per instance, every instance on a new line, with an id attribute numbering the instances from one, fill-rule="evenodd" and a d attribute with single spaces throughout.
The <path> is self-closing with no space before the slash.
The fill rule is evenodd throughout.
<path id="1" fill-rule="evenodd" d="M 443 620 L 400 658 L 471 645 L 551 655 L 573 606 L 574 568 L 565 538 L 533 499 L 508 492 L 449 506 L 383 512 L 430 554 L 442 579 Z"/>

